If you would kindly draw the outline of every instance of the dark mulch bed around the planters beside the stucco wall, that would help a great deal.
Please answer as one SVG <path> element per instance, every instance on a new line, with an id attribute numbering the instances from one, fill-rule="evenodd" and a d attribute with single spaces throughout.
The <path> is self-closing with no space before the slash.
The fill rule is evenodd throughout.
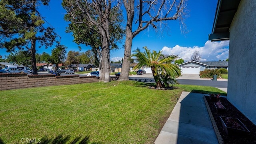
<path id="1" fill-rule="evenodd" d="M 214 103 L 210 100 L 209 96 L 205 96 L 206 100 L 209 104 L 210 110 L 218 126 L 218 130 L 224 144 L 256 144 L 256 126 L 248 120 L 236 107 L 234 107 L 226 98 L 221 98 L 220 101 L 226 108 L 224 112 L 217 112 Z M 220 116 L 238 118 L 247 128 L 250 130 L 249 133 L 246 134 L 238 134 L 235 135 L 226 134 L 224 128 L 222 127 Z"/>

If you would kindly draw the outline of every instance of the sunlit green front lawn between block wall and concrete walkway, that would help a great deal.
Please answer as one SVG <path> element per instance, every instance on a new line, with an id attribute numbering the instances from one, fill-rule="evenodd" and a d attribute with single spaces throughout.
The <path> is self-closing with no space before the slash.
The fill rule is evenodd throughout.
<path id="1" fill-rule="evenodd" d="M 182 91 L 223 91 L 178 85 L 152 90 L 134 81 L 2 90 L 0 143 L 154 143 Z"/>

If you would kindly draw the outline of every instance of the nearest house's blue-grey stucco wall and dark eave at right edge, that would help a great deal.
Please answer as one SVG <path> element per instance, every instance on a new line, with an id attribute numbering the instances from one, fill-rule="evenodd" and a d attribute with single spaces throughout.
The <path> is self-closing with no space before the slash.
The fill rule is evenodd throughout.
<path id="1" fill-rule="evenodd" d="M 256 0 L 218 0 L 209 40 L 230 40 L 227 99 L 256 124 Z"/>

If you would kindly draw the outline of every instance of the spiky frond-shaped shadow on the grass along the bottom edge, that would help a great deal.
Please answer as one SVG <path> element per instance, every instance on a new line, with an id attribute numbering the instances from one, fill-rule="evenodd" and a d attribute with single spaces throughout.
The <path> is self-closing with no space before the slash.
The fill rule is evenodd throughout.
<path id="1" fill-rule="evenodd" d="M 37 139 L 37 143 L 40 144 L 101 144 L 100 142 L 90 142 L 89 136 L 85 136 L 84 138 L 82 136 L 77 136 L 74 138 L 74 140 L 70 141 L 70 135 L 68 136 L 63 136 L 63 134 L 60 134 L 56 136 L 55 138 L 48 138 L 48 136 L 44 136 L 43 138 Z M 35 143 L 33 139 L 31 138 L 31 141 L 26 142 L 29 144 Z M 0 144 L 5 144 L 1 139 L 0 139 Z"/>

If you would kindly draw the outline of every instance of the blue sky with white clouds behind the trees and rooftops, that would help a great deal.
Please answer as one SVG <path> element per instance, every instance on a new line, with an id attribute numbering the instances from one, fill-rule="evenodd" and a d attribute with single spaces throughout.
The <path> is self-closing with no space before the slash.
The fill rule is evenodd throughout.
<path id="1" fill-rule="evenodd" d="M 168 21 L 168 28 L 155 32 L 147 29 L 138 34 L 132 43 L 132 50 L 147 46 L 150 50 L 162 50 L 163 54 L 175 54 L 185 61 L 190 60 L 194 50 L 198 50 L 202 56 L 201 61 L 218 61 L 228 58 L 229 41 L 210 42 L 208 34 L 212 32 L 216 5 L 218 0 L 188 0 L 188 17 L 184 20 L 188 33 L 182 34 L 178 20 Z M 73 42 L 71 33 L 66 33 L 68 22 L 64 21 L 66 11 L 61 6 L 62 0 L 51 0 L 49 6 L 41 6 L 42 16 L 55 28 L 61 36 L 61 44 L 70 50 L 78 51 L 78 45 Z M 125 12 L 125 11 L 124 11 Z M 110 52 L 112 61 L 122 60 L 124 56 L 123 42 L 120 44 L 120 50 Z M 80 45 L 81 52 L 90 49 L 90 46 Z M 37 48 L 37 53 L 51 53 L 51 48 Z M 0 55 L 3 58 L 8 55 L 5 49 L 0 49 Z"/>

